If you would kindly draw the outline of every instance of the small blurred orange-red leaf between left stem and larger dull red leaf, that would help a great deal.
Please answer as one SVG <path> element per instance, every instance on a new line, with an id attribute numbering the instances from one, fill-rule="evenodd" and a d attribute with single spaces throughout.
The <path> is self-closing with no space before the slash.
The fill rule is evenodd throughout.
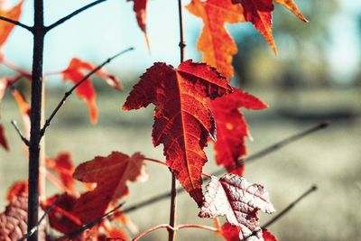
<path id="1" fill-rule="evenodd" d="M 74 167 L 69 153 L 58 153 L 54 160 L 46 158 L 46 167 L 58 173 L 62 184 L 68 190 L 74 190 L 75 180 L 72 178 Z"/>

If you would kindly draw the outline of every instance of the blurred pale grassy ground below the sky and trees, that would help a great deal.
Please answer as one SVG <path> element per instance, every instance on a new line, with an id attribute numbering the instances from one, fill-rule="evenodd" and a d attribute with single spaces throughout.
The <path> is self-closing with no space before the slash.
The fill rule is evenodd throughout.
<path id="1" fill-rule="evenodd" d="M 129 88 L 127 88 L 129 91 Z M 254 142 L 249 153 L 255 153 L 292 134 L 330 119 L 328 129 L 303 138 L 294 144 L 246 165 L 248 181 L 264 184 L 269 190 L 275 209 L 282 210 L 310 185 L 319 190 L 292 209 L 269 229 L 280 240 L 361 240 L 361 89 L 319 88 L 302 91 L 281 91 L 274 88 L 247 89 L 267 102 L 271 108 L 264 112 L 246 112 Z M 140 111 L 122 112 L 126 94 L 109 91 L 98 96 L 98 125 L 88 123 L 88 109 L 82 101 L 71 97 L 48 129 L 46 150 L 49 156 L 60 151 L 72 154 L 76 163 L 107 155 L 112 151 L 132 154 L 141 151 L 146 156 L 163 159 L 162 147 L 153 148 L 151 128 L 153 107 Z M 50 113 L 60 93 L 47 93 Z M 292 99 L 292 102 L 289 101 Z M 294 106 L 296 103 L 297 105 Z M 290 105 L 293 106 L 290 106 Z M 5 134 L 11 151 L 0 150 L 0 207 L 5 207 L 5 193 L 12 182 L 27 177 L 27 163 L 14 133 L 11 119 L 20 122 L 14 101 L 5 98 L 2 104 Z M 208 148 L 209 161 L 205 172 L 218 168 Z M 150 180 L 131 185 L 126 204 L 131 205 L 170 190 L 171 176 L 162 166 L 149 163 Z M 49 192 L 56 191 L 51 184 Z M 169 201 L 138 209 L 130 214 L 140 230 L 167 223 Z M 212 221 L 197 217 L 195 203 L 181 194 L 178 223 L 212 225 Z M 261 222 L 270 216 L 263 215 Z M 165 240 L 164 230 L 156 231 L 143 240 Z M 179 240 L 216 240 L 203 230 L 181 230 Z"/>

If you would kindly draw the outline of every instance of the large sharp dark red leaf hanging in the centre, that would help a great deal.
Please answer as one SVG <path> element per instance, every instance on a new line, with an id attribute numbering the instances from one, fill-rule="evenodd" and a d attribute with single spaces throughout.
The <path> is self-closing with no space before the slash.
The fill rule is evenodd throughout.
<path id="1" fill-rule="evenodd" d="M 153 144 L 164 144 L 164 155 L 171 171 L 190 196 L 201 203 L 202 167 L 207 162 L 203 148 L 208 136 L 215 136 L 214 118 L 207 98 L 230 93 L 227 79 L 217 70 L 191 60 L 175 70 L 165 63 L 154 63 L 127 97 L 123 109 L 155 105 Z"/>

